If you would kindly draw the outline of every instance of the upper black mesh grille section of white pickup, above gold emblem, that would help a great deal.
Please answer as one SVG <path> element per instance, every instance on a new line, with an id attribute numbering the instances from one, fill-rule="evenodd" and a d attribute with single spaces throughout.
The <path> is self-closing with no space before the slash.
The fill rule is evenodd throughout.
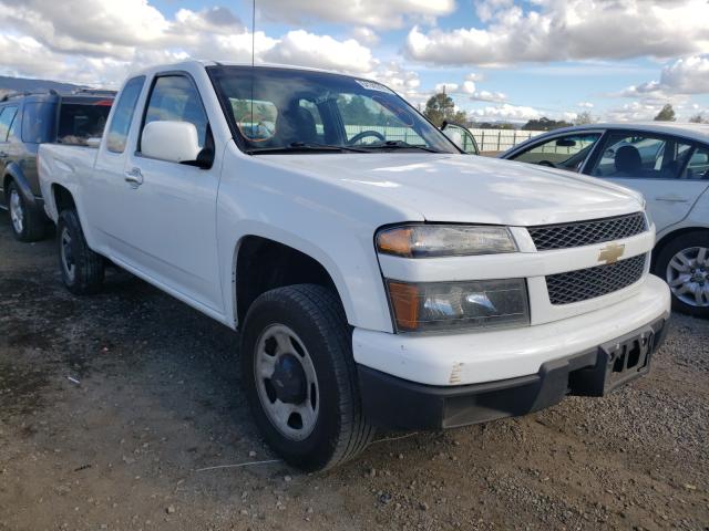
<path id="1" fill-rule="evenodd" d="M 545 225 L 527 229 L 537 251 L 568 249 L 618 240 L 647 230 L 643 212 L 566 225 Z"/>

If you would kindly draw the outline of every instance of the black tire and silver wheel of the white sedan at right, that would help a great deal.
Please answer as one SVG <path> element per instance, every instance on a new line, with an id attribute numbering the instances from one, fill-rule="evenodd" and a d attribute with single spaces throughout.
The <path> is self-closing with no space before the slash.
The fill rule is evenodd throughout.
<path id="1" fill-rule="evenodd" d="M 654 273 L 672 292 L 672 308 L 709 317 L 709 231 L 686 232 L 660 250 Z"/>

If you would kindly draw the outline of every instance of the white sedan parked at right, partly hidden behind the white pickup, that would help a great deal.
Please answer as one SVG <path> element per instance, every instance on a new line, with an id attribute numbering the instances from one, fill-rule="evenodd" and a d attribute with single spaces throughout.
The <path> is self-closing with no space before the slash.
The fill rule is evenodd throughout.
<path id="1" fill-rule="evenodd" d="M 535 136 L 501 158 L 641 191 L 657 226 L 653 272 L 675 308 L 709 316 L 709 125 L 590 124 Z"/>

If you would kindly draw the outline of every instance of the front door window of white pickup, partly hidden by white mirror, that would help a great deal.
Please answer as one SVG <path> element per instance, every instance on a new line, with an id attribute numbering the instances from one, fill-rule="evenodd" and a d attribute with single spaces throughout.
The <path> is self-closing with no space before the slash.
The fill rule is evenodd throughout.
<path id="1" fill-rule="evenodd" d="M 192 81 L 184 75 L 157 77 L 145 112 L 145 125 L 151 122 L 187 122 L 197 128 L 199 147 L 207 139 L 207 114 Z"/>

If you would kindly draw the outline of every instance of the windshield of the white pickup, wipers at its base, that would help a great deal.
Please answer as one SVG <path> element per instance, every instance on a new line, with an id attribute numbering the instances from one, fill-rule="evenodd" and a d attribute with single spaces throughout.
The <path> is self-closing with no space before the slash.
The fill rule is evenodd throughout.
<path id="1" fill-rule="evenodd" d="M 460 153 L 413 107 L 379 83 L 290 69 L 208 70 L 227 106 L 227 118 L 248 153 L 304 148 Z"/>

